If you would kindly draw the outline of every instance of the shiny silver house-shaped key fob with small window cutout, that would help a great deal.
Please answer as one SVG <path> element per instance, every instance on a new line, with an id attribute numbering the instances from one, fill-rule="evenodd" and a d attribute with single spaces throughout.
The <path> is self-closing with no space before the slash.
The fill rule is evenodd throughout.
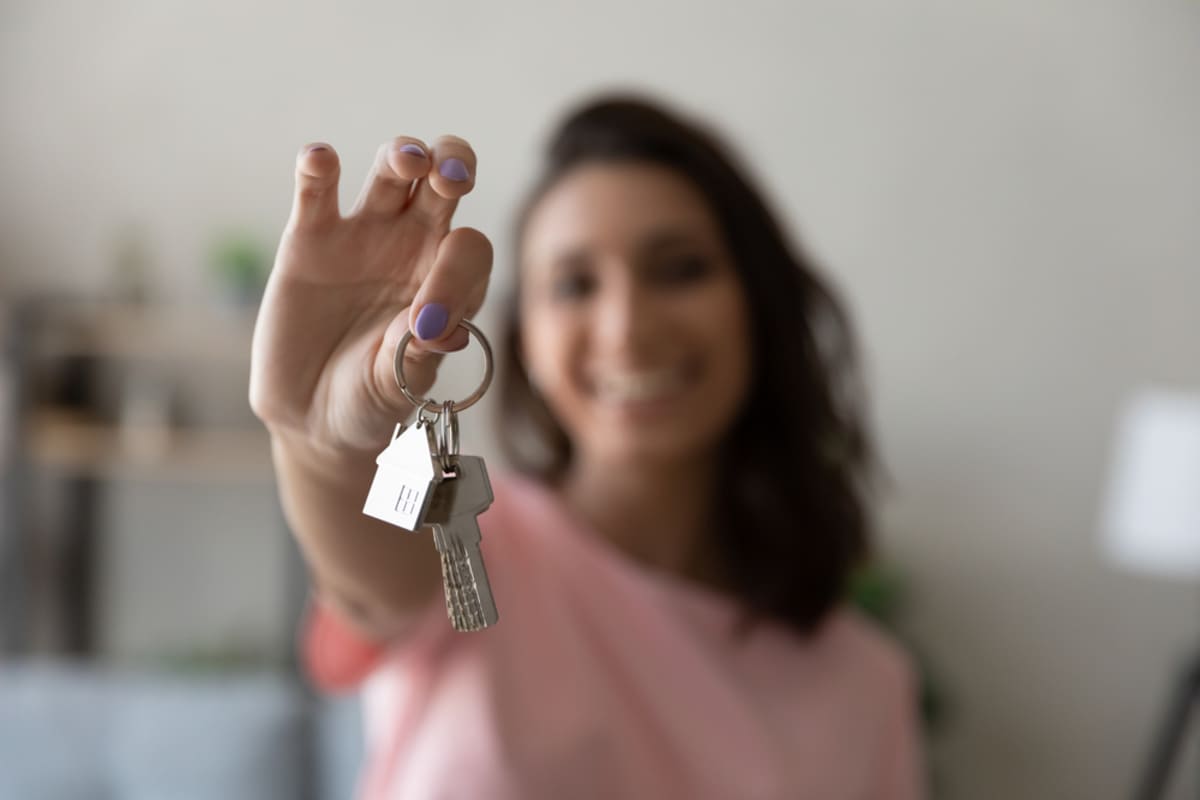
<path id="1" fill-rule="evenodd" d="M 436 452 L 430 422 L 397 425 L 391 443 L 376 458 L 378 467 L 362 513 L 408 530 L 420 529 L 433 489 L 442 482 L 442 470 L 433 463 Z"/>

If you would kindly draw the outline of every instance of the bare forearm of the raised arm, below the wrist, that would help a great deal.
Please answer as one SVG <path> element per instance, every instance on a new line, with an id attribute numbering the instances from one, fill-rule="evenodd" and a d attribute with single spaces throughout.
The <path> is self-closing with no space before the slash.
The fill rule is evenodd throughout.
<path id="1" fill-rule="evenodd" d="M 433 542 L 362 513 L 373 456 L 318 452 L 286 432 L 272 432 L 271 452 L 316 593 L 362 633 L 395 638 L 440 591 Z"/>

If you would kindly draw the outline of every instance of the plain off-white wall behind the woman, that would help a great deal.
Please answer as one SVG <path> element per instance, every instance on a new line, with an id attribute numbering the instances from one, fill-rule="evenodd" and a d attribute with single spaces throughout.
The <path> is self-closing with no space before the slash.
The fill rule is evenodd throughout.
<path id="1" fill-rule="evenodd" d="M 858 313 L 888 541 L 958 700 L 947 796 L 1118 798 L 1200 634 L 1195 587 L 1115 571 L 1094 533 L 1122 397 L 1200 385 L 1196 76 L 1187 0 L 7 0 L 0 287 L 98 288 L 138 221 L 160 293 L 204 296 L 215 229 L 277 235 L 302 143 L 338 148 L 348 205 L 397 133 L 475 144 L 460 221 L 506 253 L 564 103 L 660 90 Z"/>

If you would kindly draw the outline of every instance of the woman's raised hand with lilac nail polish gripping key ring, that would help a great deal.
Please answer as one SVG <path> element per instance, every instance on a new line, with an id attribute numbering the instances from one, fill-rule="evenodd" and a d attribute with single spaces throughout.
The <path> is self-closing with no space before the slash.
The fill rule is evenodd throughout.
<path id="1" fill-rule="evenodd" d="M 373 457 L 412 411 L 392 373 L 401 336 L 416 335 L 404 372 L 424 393 L 439 354 L 467 345 L 457 324 L 484 302 L 492 245 L 478 230 L 450 230 L 475 184 L 463 139 L 385 144 L 346 217 L 338 175 L 328 145 L 296 158 L 292 216 L 254 327 L 250 403 L 277 443 Z"/>

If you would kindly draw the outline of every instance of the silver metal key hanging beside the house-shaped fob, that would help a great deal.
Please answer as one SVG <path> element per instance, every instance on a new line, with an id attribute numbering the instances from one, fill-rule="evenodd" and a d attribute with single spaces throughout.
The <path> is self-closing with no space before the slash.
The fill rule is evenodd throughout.
<path id="1" fill-rule="evenodd" d="M 481 631 L 499 619 L 479 552 L 476 519 L 492 505 L 492 485 L 479 456 L 456 456 L 451 465 L 454 474 L 438 483 L 425 522 L 433 527 L 433 543 L 442 554 L 450 624 L 456 631 Z"/>

